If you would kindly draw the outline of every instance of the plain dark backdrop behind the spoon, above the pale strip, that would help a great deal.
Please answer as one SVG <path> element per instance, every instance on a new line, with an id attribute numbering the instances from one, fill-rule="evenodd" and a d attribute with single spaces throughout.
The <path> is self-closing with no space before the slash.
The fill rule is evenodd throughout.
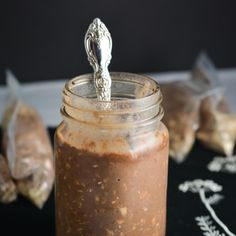
<path id="1" fill-rule="evenodd" d="M 89 72 L 83 39 L 99 17 L 113 38 L 110 69 L 190 69 L 201 49 L 217 67 L 236 66 L 235 0 L 1 0 L 0 83 Z"/>

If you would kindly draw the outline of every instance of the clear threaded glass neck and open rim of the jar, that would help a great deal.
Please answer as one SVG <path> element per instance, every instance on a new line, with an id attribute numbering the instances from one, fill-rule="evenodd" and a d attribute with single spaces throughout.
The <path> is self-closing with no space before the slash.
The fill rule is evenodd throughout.
<path id="1" fill-rule="evenodd" d="M 163 117 L 158 83 L 143 75 L 112 72 L 111 101 L 98 101 L 93 75 L 68 81 L 63 90 L 61 113 L 88 125 L 126 128 L 145 126 Z"/>

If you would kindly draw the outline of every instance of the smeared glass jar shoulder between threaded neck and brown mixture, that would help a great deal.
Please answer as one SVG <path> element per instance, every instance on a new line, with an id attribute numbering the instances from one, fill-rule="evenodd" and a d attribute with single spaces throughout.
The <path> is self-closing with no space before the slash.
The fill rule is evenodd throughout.
<path id="1" fill-rule="evenodd" d="M 62 122 L 55 132 L 55 146 L 67 144 L 78 150 L 99 154 L 117 153 L 118 155 L 145 152 L 146 149 L 162 149 L 169 144 L 166 126 L 159 122 L 152 130 L 136 133 L 134 130 L 99 130 L 73 128 Z"/>

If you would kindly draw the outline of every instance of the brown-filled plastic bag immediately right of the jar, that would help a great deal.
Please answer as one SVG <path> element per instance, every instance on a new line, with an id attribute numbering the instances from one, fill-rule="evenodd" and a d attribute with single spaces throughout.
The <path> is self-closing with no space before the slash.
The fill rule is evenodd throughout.
<path id="1" fill-rule="evenodd" d="M 170 133 L 170 156 L 181 163 L 195 142 L 200 100 L 191 81 L 163 84 L 161 91 L 165 110 L 163 122 Z"/>

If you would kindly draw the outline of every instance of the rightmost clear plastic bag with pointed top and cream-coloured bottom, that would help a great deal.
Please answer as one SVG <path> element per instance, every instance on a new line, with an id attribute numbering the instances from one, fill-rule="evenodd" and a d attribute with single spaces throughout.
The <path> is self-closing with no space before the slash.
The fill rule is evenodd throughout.
<path id="1" fill-rule="evenodd" d="M 197 138 L 210 149 L 231 156 L 236 138 L 236 116 L 224 98 L 216 69 L 205 54 L 201 54 L 193 69 L 193 80 L 208 86 L 200 106 L 200 128 Z"/>

